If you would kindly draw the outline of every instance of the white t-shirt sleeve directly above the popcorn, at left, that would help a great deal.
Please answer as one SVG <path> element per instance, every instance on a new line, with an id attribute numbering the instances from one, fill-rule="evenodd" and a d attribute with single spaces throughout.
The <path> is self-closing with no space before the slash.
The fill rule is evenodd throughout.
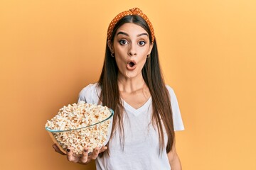
<path id="1" fill-rule="evenodd" d="M 100 91 L 97 88 L 97 84 L 89 84 L 83 88 L 78 96 L 79 101 L 85 101 L 85 103 L 97 104 L 99 101 Z"/>

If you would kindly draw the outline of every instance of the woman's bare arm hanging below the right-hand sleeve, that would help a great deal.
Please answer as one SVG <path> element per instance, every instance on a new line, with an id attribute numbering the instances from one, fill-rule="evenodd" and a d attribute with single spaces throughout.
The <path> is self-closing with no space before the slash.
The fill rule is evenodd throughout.
<path id="1" fill-rule="evenodd" d="M 167 156 L 171 165 L 171 170 L 182 170 L 181 161 L 178 158 L 178 154 L 176 152 L 175 142 L 171 152 L 169 152 Z"/>

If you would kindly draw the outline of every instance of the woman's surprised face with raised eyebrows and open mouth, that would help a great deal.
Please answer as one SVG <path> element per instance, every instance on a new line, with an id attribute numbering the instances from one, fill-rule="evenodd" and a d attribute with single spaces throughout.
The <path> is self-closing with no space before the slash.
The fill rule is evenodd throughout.
<path id="1" fill-rule="evenodd" d="M 142 77 L 142 68 L 153 46 L 144 28 L 134 23 L 124 23 L 108 46 L 114 53 L 119 79 Z"/>

